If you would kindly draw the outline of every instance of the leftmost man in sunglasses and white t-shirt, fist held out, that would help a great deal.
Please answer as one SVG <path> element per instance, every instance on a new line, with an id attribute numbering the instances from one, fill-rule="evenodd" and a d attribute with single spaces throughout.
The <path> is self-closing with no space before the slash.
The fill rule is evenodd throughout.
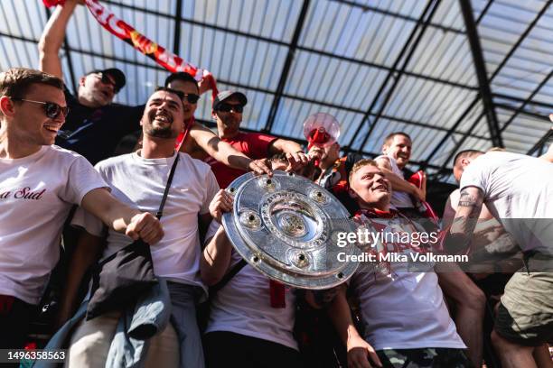
<path id="1" fill-rule="evenodd" d="M 73 205 L 119 233 L 155 244 L 159 221 L 113 198 L 83 157 L 53 145 L 68 109 L 60 78 L 0 73 L 0 348 L 21 348 Z"/>

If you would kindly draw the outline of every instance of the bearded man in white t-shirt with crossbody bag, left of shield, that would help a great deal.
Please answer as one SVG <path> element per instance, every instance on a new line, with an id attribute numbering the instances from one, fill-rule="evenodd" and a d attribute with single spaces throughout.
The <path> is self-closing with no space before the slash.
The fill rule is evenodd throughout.
<path id="1" fill-rule="evenodd" d="M 181 366 L 203 367 L 202 342 L 196 323 L 195 302 L 207 291 L 200 278 L 199 228 L 211 222 L 211 199 L 219 190 L 209 165 L 188 154 L 174 150 L 174 142 L 183 130 L 183 100 L 180 91 L 160 87 L 148 99 L 141 120 L 143 145 L 139 151 L 100 161 L 96 169 L 113 189 L 116 198 L 129 205 L 155 212 L 164 196 L 164 189 L 173 162 L 178 159 L 169 189 L 164 215 L 165 236 L 151 247 L 155 275 L 168 281 L 172 302 L 173 328 L 152 337 L 146 361 L 160 367 L 175 366 L 181 352 Z M 102 258 L 127 245 L 124 236 L 113 231 L 98 218 L 79 210 L 73 225 L 86 229 L 70 264 L 70 281 L 61 303 L 61 319 L 70 317 L 80 280 L 89 265 L 102 252 L 104 236 L 107 247 Z M 105 314 L 85 321 L 71 338 L 69 366 L 104 365 L 112 336 L 116 333 L 119 314 Z M 155 351 L 157 354 L 155 354 Z M 146 365 L 148 365 L 146 363 Z"/>

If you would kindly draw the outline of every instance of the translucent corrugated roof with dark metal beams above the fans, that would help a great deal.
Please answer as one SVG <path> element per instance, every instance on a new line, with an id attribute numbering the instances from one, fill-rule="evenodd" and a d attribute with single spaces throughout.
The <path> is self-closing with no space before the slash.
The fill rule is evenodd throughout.
<path id="1" fill-rule="evenodd" d="M 243 126 L 304 140 L 308 115 L 342 125 L 346 152 L 413 138 L 412 167 L 451 180 L 461 149 L 539 154 L 551 136 L 551 0 L 101 0 L 136 30 L 248 96 Z M 36 68 L 41 0 L 0 1 L 0 69 Z M 138 105 L 166 70 L 104 31 L 84 6 L 62 52 L 73 88 L 91 69 L 127 74 Z M 202 97 L 198 120 L 209 123 Z"/>

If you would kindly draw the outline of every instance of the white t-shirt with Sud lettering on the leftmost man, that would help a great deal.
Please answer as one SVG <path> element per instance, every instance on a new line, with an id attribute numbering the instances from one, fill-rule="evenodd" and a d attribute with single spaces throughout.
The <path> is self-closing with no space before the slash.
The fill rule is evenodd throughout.
<path id="1" fill-rule="evenodd" d="M 0 159 L 0 294 L 39 302 L 70 208 L 103 187 L 89 161 L 55 145 Z"/>

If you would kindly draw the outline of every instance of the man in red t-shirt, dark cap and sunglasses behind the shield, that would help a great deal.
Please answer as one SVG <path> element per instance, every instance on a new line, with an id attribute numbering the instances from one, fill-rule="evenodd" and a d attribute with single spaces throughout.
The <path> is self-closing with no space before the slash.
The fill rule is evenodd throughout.
<path id="1" fill-rule="evenodd" d="M 298 170 L 309 163 L 309 158 L 298 143 L 262 133 L 240 132 L 242 113 L 246 104 L 248 104 L 248 98 L 241 92 L 228 90 L 217 95 L 213 101 L 212 114 L 217 122 L 217 133 L 221 141 L 229 143 L 253 160 L 267 159 L 277 153 L 285 153 L 292 170 Z M 232 180 L 245 172 L 230 168 L 211 157 L 206 162 L 211 165 L 220 188 L 227 188 Z"/>

